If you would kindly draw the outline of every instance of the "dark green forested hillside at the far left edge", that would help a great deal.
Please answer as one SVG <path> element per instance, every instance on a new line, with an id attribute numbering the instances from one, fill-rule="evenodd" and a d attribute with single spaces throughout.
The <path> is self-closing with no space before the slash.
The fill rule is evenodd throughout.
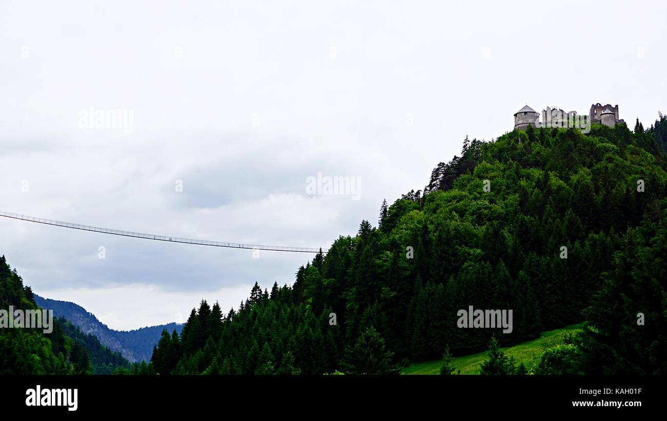
<path id="1" fill-rule="evenodd" d="M 39 308 L 5 256 L 0 257 L 0 308 Z M 53 332 L 39 328 L 0 329 L 0 374 L 111 374 L 129 362 L 64 318 L 53 318 Z"/>

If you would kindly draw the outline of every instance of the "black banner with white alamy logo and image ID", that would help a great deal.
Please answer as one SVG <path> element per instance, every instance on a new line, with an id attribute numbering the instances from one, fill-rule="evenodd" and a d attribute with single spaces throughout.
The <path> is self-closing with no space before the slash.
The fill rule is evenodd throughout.
<path id="1" fill-rule="evenodd" d="M 296 415 L 413 415 L 660 410 L 663 376 L 3 376 L 0 403 L 19 414 L 136 414 L 251 410 Z M 6 412 L 5 412 L 6 413 Z M 313 415 L 313 412 L 303 412 Z M 443 412 L 444 414 L 444 412 Z"/>

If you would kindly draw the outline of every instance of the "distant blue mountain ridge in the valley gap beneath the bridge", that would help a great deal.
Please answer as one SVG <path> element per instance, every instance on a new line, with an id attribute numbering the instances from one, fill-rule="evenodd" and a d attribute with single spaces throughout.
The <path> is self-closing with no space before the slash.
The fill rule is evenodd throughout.
<path id="1" fill-rule="evenodd" d="M 95 314 L 88 312 L 85 308 L 69 301 L 51 300 L 37 294 L 35 303 L 42 307 L 53 310 L 55 317 L 64 317 L 79 328 L 85 334 L 93 334 L 103 345 L 113 351 L 119 352 L 129 362 L 146 362 L 151 360 L 153 346 L 159 341 L 164 329 L 171 334 L 175 329 L 178 333 L 183 329 L 183 324 L 175 322 L 161 324 L 159 326 L 148 326 L 135 330 L 113 330 L 106 324 L 97 320 Z"/>

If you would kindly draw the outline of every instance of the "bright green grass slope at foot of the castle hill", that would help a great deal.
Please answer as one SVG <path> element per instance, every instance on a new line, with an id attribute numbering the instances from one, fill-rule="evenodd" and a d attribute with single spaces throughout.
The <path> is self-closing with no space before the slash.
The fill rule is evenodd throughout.
<path id="1" fill-rule="evenodd" d="M 508 356 L 514 356 L 516 364 L 523 362 L 526 368 L 530 368 L 534 358 L 542 355 L 544 349 L 547 348 L 550 338 L 554 340 L 561 334 L 577 332 L 581 330 L 582 326 L 583 324 L 572 324 L 564 328 L 548 330 L 542 332 L 542 336 L 537 339 L 502 348 L 502 351 Z M 484 351 L 478 354 L 460 356 L 454 358 L 452 363 L 454 367 L 461 370 L 461 374 L 480 374 L 482 362 L 487 359 L 486 354 L 487 352 Z M 440 367 L 442 367 L 442 360 L 415 362 L 403 368 L 403 374 L 440 374 Z"/>

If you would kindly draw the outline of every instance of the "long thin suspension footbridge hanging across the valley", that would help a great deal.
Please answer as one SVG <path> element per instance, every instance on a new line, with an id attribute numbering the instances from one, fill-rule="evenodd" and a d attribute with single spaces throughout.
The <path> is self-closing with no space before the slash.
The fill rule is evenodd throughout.
<path id="1" fill-rule="evenodd" d="M 0 210 L 0 216 L 5 216 L 5 218 L 27 220 L 29 222 L 37 222 L 39 224 L 63 226 L 64 228 L 73 228 L 73 229 L 84 230 L 84 231 L 102 232 L 103 234 L 113 234 L 113 235 L 129 236 L 129 237 L 135 237 L 135 238 L 145 238 L 147 240 L 156 240 L 156 241 L 183 242 L 185 244 L 199 244 L 200 246 L 214 246 L 214 247 L 228 247 L 228 248 L 249 248 L 251 250 L 271 250 L 271 251 L 287 251 L 287 252 L 301 252 L 301 253 L 316 253 L 316 252 L 319 252 L 319 248 L 310 248 L 310 247 L 262 246 L 262 245 L 259 245 L 259 244 L 243 244 L 243 243 L 240 243 L 240 242 L 209 241 L 209 240 L 197 240 L 195 238 L 180 238 L 180 237 L 175 237 L 175 236 L 166 236 L 166 235 L 157 235 L 157 234 L 144 234 L 142 232 L 114 230 L 114 229 L 111 229 L 111 228 L 101 228 L 99 226 L 73 224 L 71 222 L 63 222 L 61 220 L 36 218 L 35 216 L 28 216 L 28 215 L 11 213 L 11 212 L 4 212 L 3 210 Z"/>

